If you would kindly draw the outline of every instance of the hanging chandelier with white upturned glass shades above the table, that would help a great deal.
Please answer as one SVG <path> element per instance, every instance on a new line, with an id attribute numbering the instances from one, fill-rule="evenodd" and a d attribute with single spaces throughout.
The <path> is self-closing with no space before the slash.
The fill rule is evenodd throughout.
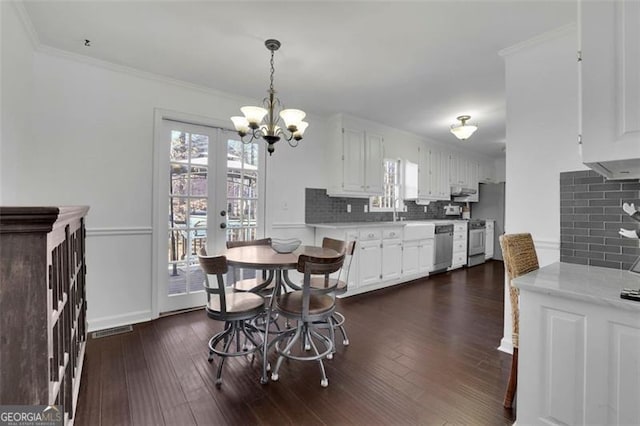
<path id="1" fill-rule="evenodd" d="M 240 108 L 244 116 L 231 117 L 231 121 L 233 121 L 233 125 L 243 143 L 251 143 L 254 139 L 262 138 L 267 142 L 267 151 L 269 155 L 271 155 L 275 150 L 274 144 L 278 142 L 281 137 L 283 137 L 290 146 L 298 146 L 298 142 L 302 139 L 302 135 L 309 123 L 302 121 L 306 116 L 304 111 L 299 109 L 284 109 L 284 106 L 280 103 L 280 99 L 276 97 L 276 91 L 273 88 L 273 74 L 275 71 L 273 67 L 273 55 L 275 51 L 280 48 L 280 42 L 269 39 L 264 42 L 264 45 L 271 52 L 271 76 L 269 90 L 267 91 L 269 96 L 262 100 L 263 107 L 245 106 Z M 278 125 L 281 118 L 282 121 L 284 121 L 287 132 Z M 244 137 L 247 135 L 251 135 L 251 139 L 245 140 Z"/>

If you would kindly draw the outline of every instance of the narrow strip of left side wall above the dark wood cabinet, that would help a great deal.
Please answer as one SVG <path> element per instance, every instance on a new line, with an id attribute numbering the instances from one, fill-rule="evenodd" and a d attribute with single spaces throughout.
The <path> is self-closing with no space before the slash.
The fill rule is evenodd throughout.
<path id="1" fill-rule="evenodd" d="M 16 204 L 20 169 L 28 167 L 22 143 L 31 139 L 33 44 L 13 2 L 0 2 L 0 205 Z"/>

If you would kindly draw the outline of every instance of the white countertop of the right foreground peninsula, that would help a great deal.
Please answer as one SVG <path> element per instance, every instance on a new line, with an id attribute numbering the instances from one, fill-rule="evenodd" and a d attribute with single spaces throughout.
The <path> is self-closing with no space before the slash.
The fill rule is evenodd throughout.
<path id="1" fill-rule="evenodd" d="M 640 288 L 640 275 L 618 269 L 556 262 L 513 280 L 521 290 L 640 312 L 640 302 L 620 298 Z"/>

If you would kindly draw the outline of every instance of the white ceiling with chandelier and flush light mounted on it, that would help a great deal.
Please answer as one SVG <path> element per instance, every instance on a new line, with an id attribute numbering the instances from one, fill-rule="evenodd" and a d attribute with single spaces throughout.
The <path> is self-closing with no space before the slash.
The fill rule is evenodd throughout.
<path id="1" fill-rule="evenodd" d="M 575 0 L 23 3 L 43 45 L 256 103 L 269 83 L 264 40 L 277 38 L 275 88 L 287 107 L 343 112 L 492 157 L 505 147 L 498 52 L 576 20 Z M 467 141 L 448 131 L 462 114 L 479 126 Z"/>

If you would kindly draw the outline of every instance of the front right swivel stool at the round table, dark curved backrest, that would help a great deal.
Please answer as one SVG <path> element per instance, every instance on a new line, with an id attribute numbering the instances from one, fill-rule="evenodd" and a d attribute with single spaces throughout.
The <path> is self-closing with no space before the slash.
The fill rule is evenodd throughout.
<path id="1" fill-rule="evenodd" d="M 275 298 L 276 310 L 285 318 L 296 320 L 298 325 L 280 333 L 271 343 L 275 346 L 278 354 L 278 361 L 271 374 L 271 380 L 277 381 L 279 379 L 278 373 L 282 361 L 287 358 L 297 361 L 317 361 L 322 373 L 320 385 L 322 387 L 329 385 L 322 359 L 328 358 L 334 350 L 334 327 L 331 316 L 335 311 L 335 300 L 329 293 L 334 291 L 335 287 L 312 288 L 311 276 L 324 275 L 327 277 L 329 274 L 340 271 L 344 257 L 344 253 L 334 258 L 317 258 L 306 255 L 298 257 L 296 269 L 304 274 L 302 289 L 284 293 Z M 317 331 L 320 327 L 326 328 L 326 323 L 329 324 L 329 336 Z M 281 348 L 281 343 L 285 341 L 284 348 Z M 298 342 L 300 343 L 299 347 L 296 346 Z M 311 354 L 305 350 L 307 345 L 310 347 L 309 349 L 313 349 Z M 318 345 L 321 350 L 318 350 Z"/>

